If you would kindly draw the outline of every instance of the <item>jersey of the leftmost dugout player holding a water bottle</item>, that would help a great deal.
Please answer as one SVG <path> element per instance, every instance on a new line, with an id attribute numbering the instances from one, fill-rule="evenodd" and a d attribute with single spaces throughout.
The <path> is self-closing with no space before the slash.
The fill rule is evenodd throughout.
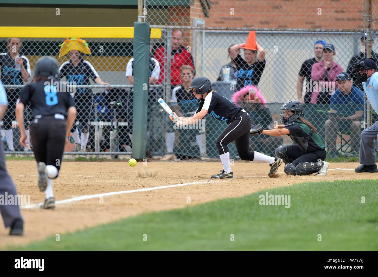
<path id="1" fill-rule="evenodd" d="M 28 58 L 21 55 L 23 66 L 31 76 L 30 63 Z M 22 85 L 22 72 L 21 70 L 15 70 L 15 61 L 11 58 L 9 53 L 0 54 L 0 66 L 1 66 L 1 81 L 5 85 Z"/>

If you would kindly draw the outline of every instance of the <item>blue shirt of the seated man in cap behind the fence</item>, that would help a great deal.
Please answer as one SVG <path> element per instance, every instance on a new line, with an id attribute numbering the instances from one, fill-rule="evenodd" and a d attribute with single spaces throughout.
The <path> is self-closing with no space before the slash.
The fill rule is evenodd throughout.
<path id="1" fill-rule="evenodd" d="M 344 116 L 354 115 L 356 112 L 364 110 L 364 93 L 355 86 L 352 86 L 349 94 L 337 89 L 331 96 L 330 108 Z"/>

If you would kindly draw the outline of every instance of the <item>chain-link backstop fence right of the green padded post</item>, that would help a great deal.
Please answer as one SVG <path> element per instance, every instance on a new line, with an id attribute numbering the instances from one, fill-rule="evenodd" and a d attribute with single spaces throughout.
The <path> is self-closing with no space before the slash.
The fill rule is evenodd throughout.
<path id="1" fill-rule="evenodd" d="M 183 89 L 191 73 L 183 66 L 189 66 L 194 70 L 191 78 L 208 77 L 218 93 L 251 114 L 253 124 L 267 129 L 280 124 L 283 103 L 301 101 L 328 158 L 358 156 L 366 96 L 353 80 L 352 68 L 370 44 L 366 2 L 146 0 L 144 5 L 146 22 L 163 29 L 163 94 L 173 109 L 184 116 L 197 109 Z M 375 18 L 374 5 L 372 11 Z M 241 48 L 251 30 L 256 31 L 258 51 Z M 374 38 L 373 24 L 376 60 Z M 231 57 L 231 46 L 239 57 Z M 155 57 L 160 55 L 155 52 Z M 377 119 L 373 112 L 372 122 Z M 208 115 L 196 130 L 166 130 L 166 143 L 160 146 L 167 153 L 163 159 L 218 157 L 215 141 L 224 128 Z M 274 156 L 280 144 L 292 142 L 288 136 L 250 138 L 251 150 L 267 155 Z M 238 158 L 234 145 L 230 157 Z"/>

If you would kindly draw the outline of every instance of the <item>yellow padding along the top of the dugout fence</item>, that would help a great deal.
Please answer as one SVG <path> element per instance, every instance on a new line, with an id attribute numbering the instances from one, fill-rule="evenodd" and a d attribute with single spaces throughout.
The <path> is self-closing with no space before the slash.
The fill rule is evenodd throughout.
<path id="1" fill-rule="evenodd" d="M 134 27 L 0 27 L 0 37 L 20 38 L 133 38 Z M 161 29 L 151 29 L 150 38 L 161 38 Z"/>

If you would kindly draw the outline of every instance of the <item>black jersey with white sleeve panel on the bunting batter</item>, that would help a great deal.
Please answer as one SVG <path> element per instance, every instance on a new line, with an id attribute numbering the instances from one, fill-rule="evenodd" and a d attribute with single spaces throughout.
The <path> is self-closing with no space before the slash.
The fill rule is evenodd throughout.
<path id="1" fill-rule="evenodd" d="M 199 106 L 195 113 L 198 113 L 200 110 L 207 110 L 212 117 L 227 124 L 230 124 L 235 119 L 237 113 L 242 110 L 241 107 L 236 106 L 225 96 L 221 96 L 214 91 L 209 92 L 205 100 L 199 99 L 198 103 Z"/>

